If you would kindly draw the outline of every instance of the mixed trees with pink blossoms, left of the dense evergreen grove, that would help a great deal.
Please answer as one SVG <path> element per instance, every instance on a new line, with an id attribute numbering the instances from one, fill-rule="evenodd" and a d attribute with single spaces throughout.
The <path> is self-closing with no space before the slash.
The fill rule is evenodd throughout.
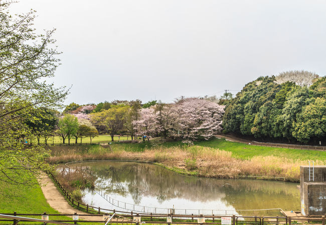
<path id="1" fill-rule="evenodd" d="M 26 124 L 40 143 L 59 136 L 63 143 L 71 139 L 98 134 L 127 134 L 131 139 L 137 136 L 161 137 L 164 139 L 209 139 L 222 130 L 224 105 L 216 98 L 180 98 L 174 103 L 149 101 L 142 104 L 139 99 L 132 101 L 114 100 L 97 105 L 71 103 L 63 113 L 47 108 L 36 108 L 28 116 Z"/>

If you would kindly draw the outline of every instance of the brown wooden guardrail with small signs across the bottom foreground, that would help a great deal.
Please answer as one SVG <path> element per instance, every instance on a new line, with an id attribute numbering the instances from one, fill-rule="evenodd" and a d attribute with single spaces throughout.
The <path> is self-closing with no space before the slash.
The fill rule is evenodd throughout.
<path id="1" fill-rule="evenodd" d="M 40 216 L 39 218 L 25 217 L 27 216 Z M 56 216 L 72 216 L 72 219 L 57 219 Z M 88 219 L 92 216 L 98 217 L 98 219 Z M 50 218 L 53 218 L 50 220 Z M 18 224 L 23 221 L 40 222 L 43 224 L 77 224 L 78 222 L 88 222 L 88 223 L 104 223 L 107 224 L 139 224 L 139 223 L 159 223 L 159 224 L 232 224 L 232 225 L 269 225 L 269 224 L 284 224 L 291 225 L 297 222 L 307 221 L 309 222 L 320 222 L 322 225 L 325 224 L 325 216 L 204 216 L 204 215 L 178 215 L 178 214 L 166 214 L 166 215 L 122 215 L 122 214 L 29 214 L 29 213 L 1 213 L 0 221 L 13 222 L 13 224 Z"/>

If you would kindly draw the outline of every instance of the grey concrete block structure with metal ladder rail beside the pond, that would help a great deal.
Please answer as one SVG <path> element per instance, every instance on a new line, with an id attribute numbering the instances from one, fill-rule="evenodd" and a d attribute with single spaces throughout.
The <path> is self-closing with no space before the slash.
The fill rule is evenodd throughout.
<path id="1" fill-rule="evenodd" d="M 326 166 L 300 166 L 302 215 L 326 214 Z"/>

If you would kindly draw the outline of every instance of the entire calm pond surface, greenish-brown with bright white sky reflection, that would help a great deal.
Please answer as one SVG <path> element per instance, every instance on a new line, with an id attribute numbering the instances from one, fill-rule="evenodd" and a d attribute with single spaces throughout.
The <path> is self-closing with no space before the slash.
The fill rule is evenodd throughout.
<path id="1" fill-rule="evenodd" d="M 167 213 L 165 209 L 154 209 L 160 207 L 175 208 L 175 213 L 185 213 L 184 209 L 187 209 L 187 213 L 194 214 L 199 212 L 198 209 L 206 209 L 200 210 L 200 213 L 223 214 L 217 210 L 228 210 L 227 214 L 257 215 L 279 215 L 280 210 L 242 210 L 282 208 L 285 211 L 300 208 L 298 183 L 187 176 L 154 164 L 138 162 L 96 161 L 69 166 L 87 166 L 96 176 L 96 186 L 102 191 L 102 196 L 97 193 L 101 191 L 84 190 L 83 201 L 101 208 L 122 210 L 126 207 L 133 211 Z M 113 201 L 114 205 L 109 201 Z M 143 206 L 146 206 L 145 209 Z"/>

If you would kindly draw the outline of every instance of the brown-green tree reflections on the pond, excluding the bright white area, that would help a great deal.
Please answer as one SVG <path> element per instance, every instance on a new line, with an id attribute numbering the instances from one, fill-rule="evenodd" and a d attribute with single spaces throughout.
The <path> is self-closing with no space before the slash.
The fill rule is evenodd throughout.
<path id="1" fill-rule="evenodd" d="M 129 192 L 136 204 L 140 203 L 142 196 L 156 197 L 159 203 L 180 197 L 202 202 L 222 199 L 227 205 L 245 209 L 252 207 L 250 205 L 255 205 L 255 208 L 277 207 L 283 199 L 288 201 L 285 205 L 290 206 L 299 199 L 293 183 L 185 176 L 160 166 L 133 162 L 87 165 L 92 166 L 100 180 L 99 186 L 107 193 L 125 196 Z"/>

